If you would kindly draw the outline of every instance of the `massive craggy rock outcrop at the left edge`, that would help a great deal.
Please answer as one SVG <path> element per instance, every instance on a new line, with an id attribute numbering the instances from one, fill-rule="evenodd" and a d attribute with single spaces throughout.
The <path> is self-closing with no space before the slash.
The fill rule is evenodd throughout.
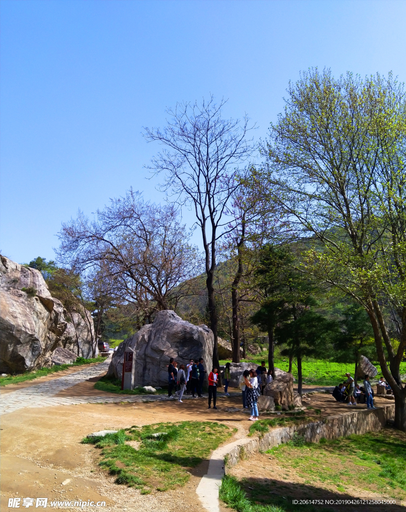
<path id="1" fill-rule="evenodd" d="M 83 317 L 75 313 L 73 323 L 68 321 L 64 306 L 51 296 L 38 270 L 1 255 L 0 277 L 0 372 L 51 366 L 52 353 L 58 347 L 76 357 L 92 357 L 92 335 L 95 337 L 89 311 L 83 311 Z"/>

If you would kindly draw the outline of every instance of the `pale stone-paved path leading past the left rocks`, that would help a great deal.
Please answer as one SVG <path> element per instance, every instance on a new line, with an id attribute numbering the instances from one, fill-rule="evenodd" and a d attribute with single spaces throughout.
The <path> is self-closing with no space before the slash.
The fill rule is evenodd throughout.
<path id="1" fill-rule="evenodd" d="M 0 414 L 7 414 L 23 409 L 24 407 L 49 407 L 71 406 L 79 403 L 114 403 L 114 402 L 142 402 L 144 400 L 159 401 L 170 400 L 163 395 L 117 395 L 117 396 L 81 396 L 62 397 L 55 396 L 64 389 L 71 388 L 79 382 L 84 382 L 92 377 L 105 374 L 109 368 L 111 356 L 99 365 L 94 365 L 84 370 L 59 377 L 47 382 L 42 382 L 29 388 L 12 391 L 1 396 Z M 189 397 L 184 397 L 189 398 Z"/>

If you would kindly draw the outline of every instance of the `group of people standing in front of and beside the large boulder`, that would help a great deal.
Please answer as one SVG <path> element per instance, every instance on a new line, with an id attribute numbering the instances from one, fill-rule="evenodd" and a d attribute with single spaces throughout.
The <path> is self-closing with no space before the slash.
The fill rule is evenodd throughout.
<path id="1" fill-rule="evenodd" d="M 204 360 L 200 357 L 198 360 L 190 359 L 189 364 L 177 367 L 177 361 L 173 357 L 169 360 L 168 365 L 168 396 L 177 398 L 182 402 L 183 395 L 192 395 L 193 398 L 202 397 L 202 389 L 205 381 L 207 370 L 204 368 Z M 209 380 L 209 407 L 213 401 L 213 409 L 217 409 L 217 388 L 219 386 L 218 369 L 213 368 L 208 376 Z M 231 380 L 230 363 L 226 364 L 224 370 L 225 389 L 224 394 L 230 396 L 228 387 Z M 272 381 L 272 374 L 265 367 L 265 361 L 261 361 L 261 366 L 256 370 L 245 370 L 239 378 L 239 388 L 242 392 L 242 407 L 251 409 L 251 421 L 258 420 L 258 397 L 262 394 L 265 386 Z M 197 396 L 196 396 L 197 394 Z"/>

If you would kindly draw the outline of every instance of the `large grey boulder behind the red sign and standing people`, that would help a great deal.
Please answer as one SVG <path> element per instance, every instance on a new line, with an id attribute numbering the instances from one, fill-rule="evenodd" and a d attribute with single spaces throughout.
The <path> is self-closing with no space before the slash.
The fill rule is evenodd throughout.
<path id="1" fill-rule="evenodd" d="M 121 379 L 124 349 L 129 346 L 135 354 L 134 386 L 168 386 L 169 359 L 173 357 L 186 365 L 189 359 L 204 359 L 207 382 L 213 359 L 213 332 L 205 325 L 195 326 L 182 320 L 174 311 L 159 311 L 154 322 L 141 327 L 131 338 L 124 340 L 114 352 L 107 375 Z"/>

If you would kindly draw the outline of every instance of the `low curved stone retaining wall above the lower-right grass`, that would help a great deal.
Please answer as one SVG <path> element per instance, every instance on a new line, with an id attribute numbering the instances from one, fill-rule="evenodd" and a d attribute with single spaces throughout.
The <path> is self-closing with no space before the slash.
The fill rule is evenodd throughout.
<path id="1" fill-rule="evenodd" d="M 303 436 L 307 442 L 319 442 L 322 437 L 336 439 L 351 434 L 365 434 L 378 432 L 387 424 L 388 419 L 395 416 L 395 404 L 380 407 L 373 411 L 363 409 L 351 411 L 347 414 L 329 416 L 320 421 L 314 421 L 306 425 L 282 426 L 273 429 L 262 438 L 241 440 L 241 444 L 233 449 L 225 457 L 225 472 L 235 466 L 240 459 L 244 459 L 256 452 L 266 451 L 281 443 L 290 441 L 295 432 Z"/>

